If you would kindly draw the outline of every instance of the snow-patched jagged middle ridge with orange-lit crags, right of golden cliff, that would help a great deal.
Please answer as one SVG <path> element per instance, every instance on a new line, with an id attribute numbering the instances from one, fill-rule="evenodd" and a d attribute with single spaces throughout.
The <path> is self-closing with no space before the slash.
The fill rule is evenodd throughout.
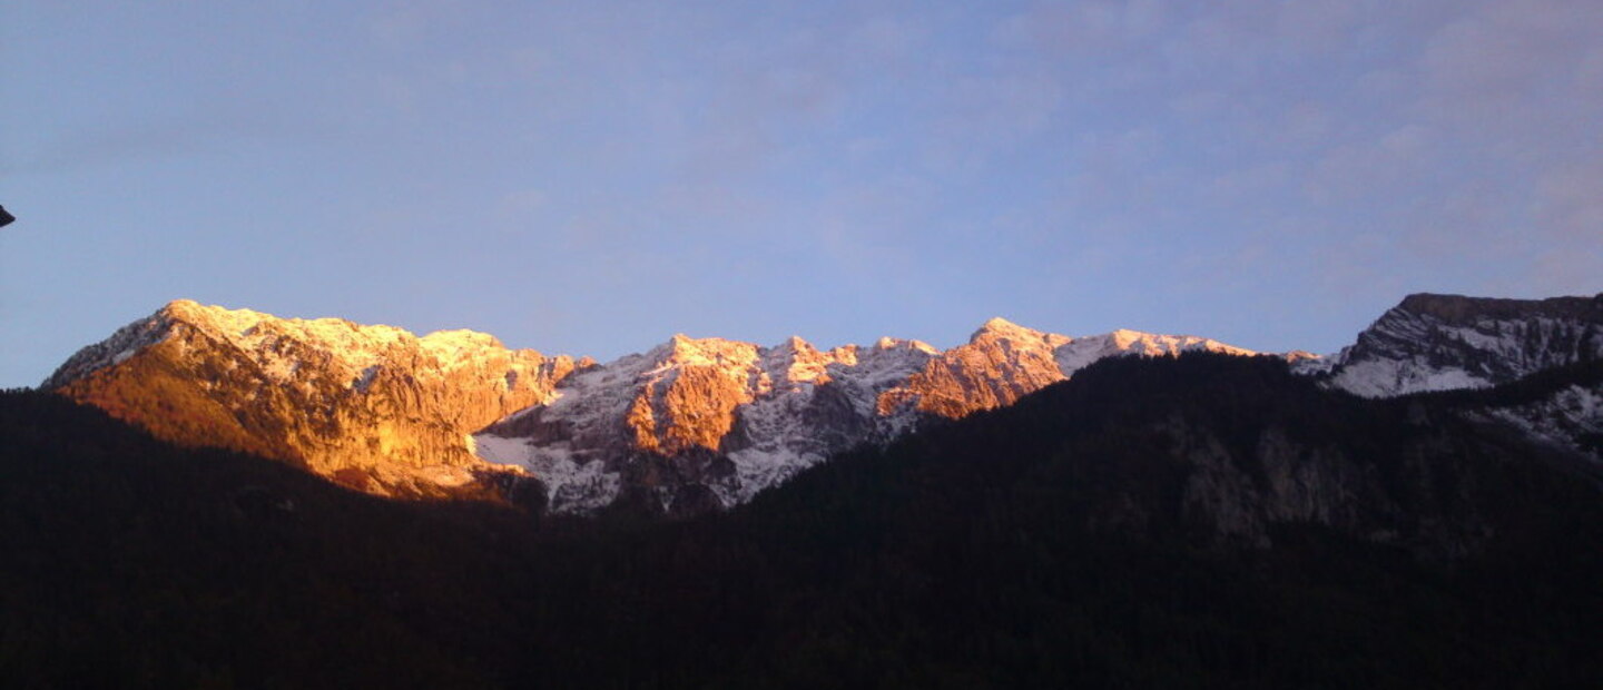
<path id="1" fill-rule="evenodd" d="M 555 402 L 474 440 L 484 458 L 547 482 L 558 511 L 622 498 L 697 512 L 747 501 L 832 453 L 888 442 L 928 419 L 1010 405 L 1103 357 L 1188 351 L 1250 354 L 1193 336 L 1069 338 L 1003 319 L 946 352 L 893 338 L 821 351 L 800 338 L 760 347 L 675 336 L 563 381 Z"/>

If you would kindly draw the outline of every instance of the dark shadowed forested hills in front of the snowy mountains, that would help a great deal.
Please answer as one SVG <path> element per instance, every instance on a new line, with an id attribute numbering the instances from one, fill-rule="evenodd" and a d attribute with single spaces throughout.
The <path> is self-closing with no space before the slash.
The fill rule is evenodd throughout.
<path id="1" fill-rule="evenodd" d="M 1569 375 L 1595 371 L 1523 386 Z M 1363 400 L 1268 359 L 1106 360 L 728 514 L 537 525 L 6 394 L 0 677 L 1595 687 L 1595 474 L 1457 413 L 1478 403 Z"/>

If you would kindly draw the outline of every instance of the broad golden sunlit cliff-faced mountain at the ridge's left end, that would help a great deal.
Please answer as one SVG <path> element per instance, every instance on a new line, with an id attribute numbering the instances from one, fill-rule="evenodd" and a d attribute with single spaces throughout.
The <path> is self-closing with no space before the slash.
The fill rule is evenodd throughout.
<path id="1" fill-rule="evenodd" d="M 474 456 L 470 434 L 547 400 L 572 370 L 567 357 L 508 351 L 483 333 L 418 338 L 175 301 L 85 347 L 43 387 L 176 443 L 258 453 L 372 493 L 438 496 L 507 474 Z"/>

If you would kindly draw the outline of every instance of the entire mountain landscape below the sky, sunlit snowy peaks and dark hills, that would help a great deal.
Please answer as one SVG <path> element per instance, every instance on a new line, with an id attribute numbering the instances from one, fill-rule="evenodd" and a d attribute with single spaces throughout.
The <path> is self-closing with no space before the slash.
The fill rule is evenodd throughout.
<path id="1" fill-rule="evenodd" d="M 1415 295 L 1330 357 L 994 320 L 603 365 L 173 303 L 0 392 L 0 677 L 1597 687 L 1600 327 Z"/>

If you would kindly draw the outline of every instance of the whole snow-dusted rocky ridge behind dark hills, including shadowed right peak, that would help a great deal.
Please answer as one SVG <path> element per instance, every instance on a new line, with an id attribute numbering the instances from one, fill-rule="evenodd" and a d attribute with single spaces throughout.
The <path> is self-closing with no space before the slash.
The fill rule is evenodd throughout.
<path id="1" fill-rule="evenodd" d="M 77 352 L 42 387 L 170 442 L 258 453 L 378 495 L 694 514 L 853 447 L 1011 405 L 1108 357 L 1194 351 L 1257 354 L 992 319 L 947 351 L 676 335 L 596 363 L 474 331 L 415 336 L 175 301 Z M 1278 357 L 1364 397 L 1486 387 L 1603 360 L 1603 296 L 1411 295 L 1339 355 Z M 1561 387 L 1484 416 L 1585 450 L 1603 431 L 1603 389 Z"/>

